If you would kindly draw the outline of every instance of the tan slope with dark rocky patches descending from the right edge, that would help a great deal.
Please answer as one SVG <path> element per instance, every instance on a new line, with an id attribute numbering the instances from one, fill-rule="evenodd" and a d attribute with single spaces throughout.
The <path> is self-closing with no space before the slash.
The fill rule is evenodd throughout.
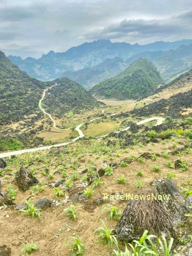
<path id="1" fill-rule="evenodd" d="M 192 113 L 192 70 L 160 87 L 154 95 L 138 102 L 138 106 L 141 108 L 132 111 L 135 116 L 161 113 L 178 117 Z"/>

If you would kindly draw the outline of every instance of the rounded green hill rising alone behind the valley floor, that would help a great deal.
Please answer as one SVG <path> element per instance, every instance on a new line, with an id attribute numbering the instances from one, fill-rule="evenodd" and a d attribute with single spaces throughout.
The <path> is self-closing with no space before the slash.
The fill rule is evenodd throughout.
<path id="1" fill-rule="evenodd" d="M 139 59 L 115 77 L 96 84 L 90 92 L 97 97 L 138 99 L 151 94 L 162 82 L 154 64 Z"/>

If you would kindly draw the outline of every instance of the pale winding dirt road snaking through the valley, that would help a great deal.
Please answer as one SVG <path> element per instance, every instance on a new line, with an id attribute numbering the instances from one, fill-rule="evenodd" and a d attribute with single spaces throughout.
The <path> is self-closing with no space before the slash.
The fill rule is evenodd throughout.
<path id="1" fill-rule="evenodd" d="M 45 98 L 45 95 L 46 95 L 46 92 L 48 91 L 48 89 L 56 86 L 57 83 L 55 83 L 55 85 L 45 89 L 43 91 L 43 95 L 42 95 L 42 98 L 40 99 L 39 101 L 39 108 L 41 109 L 42 112 L 44 112 L 44 114 L 46 114 L 50 120 L 52 121 L 53 123 L 53 127 L 56 128 L 56 129 L 59 129 L 59 130 L 64 130 L 64 129 L 61 129 L 61 128 L 57 128 L 56 127 L 56 123 L 54 121 L 54 119 L 52 118 L 52 116 L 47 113 L 43 108 L 42 108 L 42 101 L 43 99 Z M 102 111 L 102 113 L 104 113 L 104 111 Z M 113 113 L 111 115 L 108 115 L 107 117 L 110 117 L 110 116 L 114 116 L 114 115 L 117 115 L 117 113 Z M 95 119 L 92 119 L 90 120 L 89 122 L 93 122 L 97 119 L 100 119 L 102 117 L 98 117 L 98 118 L 95 118 Z M 147 118 L 145 120 L 142 120 L 140 122 L 137 123 L 137 125 L 142 125 L 142 124 L 145 124 L 145 123 L 148 123 L 150 121 L 153 121 L 153 120 L 157 120 L 157 123 L 155 126 L 158 126 L 160 124 L 162 124 L 162 122 L 165 120 L 163 117 L 150 117 L 150 118 Z M 41 147 L 35 147 L 35 148 L 28 148 L 28 149 L 22 149 L 22 150 L 17 150 L 17 151 L 10 151 L 10 152 L 5 152 L 5 153 L 0 153 L 0 158 L 6 158 L 6 157 L 10 157 L 10 156 L 15 156 L 15 155 L 21 155 L 21 154 L 24 154 L 24 153 L 30 153 L 30 152 L 36 152 L 36 151 L 39 151 L 39 150 L 47 150 L 47 149 L 50 149 L 51 147 L 60 147 L 60 146 L 65 146 L 65 145 L 68 145 L 68 144 L 71 144 L 71 143 L 74 143 L 76 141 L 78 141 L 80 138 L 83 138 L 85 135 L 84 133 L 81 131 L 81 126 L 83 126 L 85 123 L 82 123 L 80 125 L 78 125 L 75 129 L 76 131 L 79 133 L 79 136 L 76 137 L 75 139 L 73 139 L 71 142 L 65 142 L 65 143 L 60 143 L 60 144 L 54 144 L 54 145 L 50 145 L 50 146 L 41 146 Z M 124 128 L 122 129 L 121 131 L 126 131 L 128 130 L 130 127 L 127 127 L 127 128 Z M 116 133 L 119 133 L 120 131 L 117 131 Z M 101 137 L 98 137 L 97 139 L 100 140 L 102 139 L 103 137 L 106 137 L 108 134 L 104 135 L 104 136 L 101 136 Z"/>

